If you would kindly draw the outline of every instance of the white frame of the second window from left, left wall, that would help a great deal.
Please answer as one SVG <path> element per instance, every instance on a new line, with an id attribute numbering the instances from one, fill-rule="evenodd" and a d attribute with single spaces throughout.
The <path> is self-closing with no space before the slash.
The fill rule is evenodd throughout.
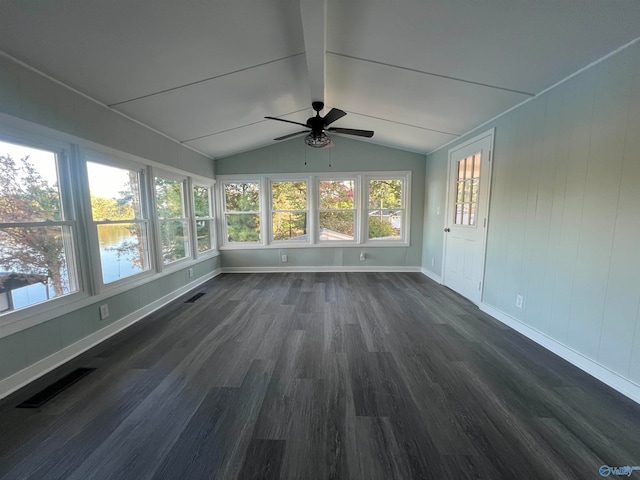
<path id="1" fill-rule="evenodd" d="M 134 162 L 131 160 L 125 160 L 113 154 L 106 154 L 103 152 L 99 152 L 93 149 L 83 149 L 82 151 L 83 161 L 83 189 L 86 190 L 85 198 L 86 198 L 86 217 L 87 217 L 87 228 L 89 230 L 89 256 L 91 259 L 92 265 L 92 279 L 94 285 L 94 291 L 97 293 L 107 292 L 113 289 L 118 288 L 120 285 L 128 284 L 131 282 L 137 282 L 140 279 L 145 277 L 149 277 L 153 275 L 157 271 L 157 263 L 156 263 L 156 246 L 153 241 L 153 234 L 155 233 L 155 227 L 153 224 L 153 215 L 151 215 L 151 209 L 149 205 L 149 167 L 146 165 L 140 164 L 138 162 Z M 88 171 L 88 163 L 99 163 L 101 165 L 121 168 L 123 170 L 132 170 L 138 171 L 139 177 L 139 188 L 140 188 L 140 210 L 142 213 L 141 219 L 132 219 L 127 220 L 126 223 L 140 223 L 145 225 L 146 228 L 146 240 L 147 240 L 147 261 L 149 262 L 149 268 L 143 270 L 141 272 L 135 273 L 133 275 L 128 275 L 126 277 L 120 278 L 118 280 L 114 280 L 112 282 L 104 281 L 103 272 L 102 272 L 102 258 L 100 256 L 100 241 L 98 235 L 98 225 L 109 225 L 109 224 L 120 224 L 125 223 L 125 221 L 120 220 L 94 220 L 92 214 L 92 205 L 91 205 L 91 186 L 89 184 L 89 171 Z"/>

